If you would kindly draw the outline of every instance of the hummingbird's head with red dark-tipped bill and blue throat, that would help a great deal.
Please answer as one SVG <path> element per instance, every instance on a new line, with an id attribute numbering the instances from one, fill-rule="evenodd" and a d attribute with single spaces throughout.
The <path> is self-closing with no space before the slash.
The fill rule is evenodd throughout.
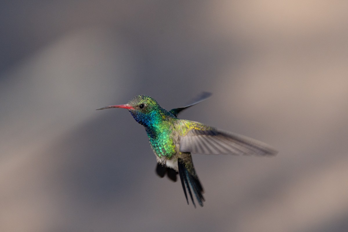
<path id="1" fill-rule="evenodd" d="M 135 121 L 143 126 L 157 124 L 161 118 L 164 118 L 162 113 L 164 110 L 158 105 L 155 99 L 146 95 L 138 95 L 129 100 L 125 105 L 110 105 L 99 108 L 103 110 L 108 108 L 124 108 L 132 114 Z"/>

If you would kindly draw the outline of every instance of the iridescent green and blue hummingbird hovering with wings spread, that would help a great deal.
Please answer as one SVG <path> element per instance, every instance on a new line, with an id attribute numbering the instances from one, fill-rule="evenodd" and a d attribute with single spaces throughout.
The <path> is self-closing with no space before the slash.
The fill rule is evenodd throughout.
<path id="1" fill-rule="evenodd" d="M 256 139 L 200 122 L 177 118 L 181 111 L 210 96 L 211 93 L 203 92 L 193 103 L 170 111 L 163 109 L 155 99 L 146 95 L 135 96 L 124 105 L 110 105 L 97 110 L 127 109 L 135 121 L 145 128 L 151 148 L 156 155 L 157 174 L 160 177 L 167 174 L 175 182 L 179 173 L 187 204 L 189 204 L 189 194 L 196 208 L 193 195 L 202 207 L 205 199 L 191 154 L 275 155 L 278 153 L 270 145 Z"/>

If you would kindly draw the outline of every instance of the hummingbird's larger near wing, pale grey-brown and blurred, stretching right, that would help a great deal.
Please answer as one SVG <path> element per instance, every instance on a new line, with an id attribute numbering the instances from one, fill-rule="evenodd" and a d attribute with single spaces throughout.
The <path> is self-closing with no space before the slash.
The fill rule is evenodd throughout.
<path id="1" fill-rule="evenodd" d="M 199 154 L 275 155 L 266 143 L 218 129 L 190 130 L 180 137 L 180 151 Z"/>

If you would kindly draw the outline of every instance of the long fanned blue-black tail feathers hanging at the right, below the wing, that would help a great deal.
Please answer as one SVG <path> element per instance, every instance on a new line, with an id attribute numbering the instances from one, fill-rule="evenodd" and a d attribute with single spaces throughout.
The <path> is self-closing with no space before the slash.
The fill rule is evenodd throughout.
<path id="1" fill-rule="evenodd" d="M 177 164 L 179 167 L 179 175 L 180 175 L 180 179 L 181 179 L 181 185 L 182 185 L 182 188 L 184 190 L 187 204 L 189 204 L 189 200 L 187 198 L 186 189 L 188 190 L 188 192 L 190 194 L 193 206 L 195 206 L 195 208 L 196 208 L 195 201 L 193 201 L 193 197 L 192 197 L 192 192 L 191 192 L 191 189 L 192 189 L 193 193 L 195 194 L 195 196 L 197 198 L 198 204 L 203 207 L 203 201 L 204 201 L 204 198 L 202 195 L 203 187 L 199 182 L 199 179 L 195 173 L 195 170 L 191 170 L 191 172 L 188 171 L 187 168 L 185 167 L 185 163 L 182 159 L 178 159 Z"/>

